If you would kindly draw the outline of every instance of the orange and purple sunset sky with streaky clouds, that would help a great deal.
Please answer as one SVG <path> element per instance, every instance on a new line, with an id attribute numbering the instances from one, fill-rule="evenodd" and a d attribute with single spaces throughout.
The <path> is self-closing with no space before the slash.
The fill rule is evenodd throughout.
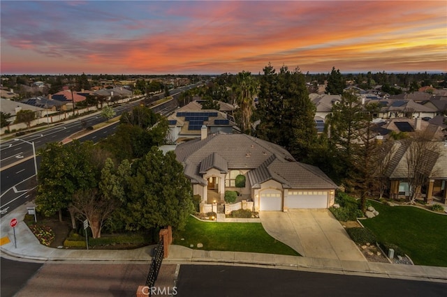
<path id="1" fill-rule="evenodd" d="M 0 1 L 1 74 L 447 72 L 447 1 Z"/>

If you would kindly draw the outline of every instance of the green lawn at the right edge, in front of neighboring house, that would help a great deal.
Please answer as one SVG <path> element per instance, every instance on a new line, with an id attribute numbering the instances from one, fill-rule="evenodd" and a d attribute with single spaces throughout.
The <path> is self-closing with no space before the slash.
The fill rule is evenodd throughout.
<path id="1" fill-rule="evenodd" d="M 411 206 L 387 206 L 371 201 L 379 211 L 375 218 L 362 220 L 381 242 L 393 243 L 414 264 L 447 266 L 447 215 Z"/>

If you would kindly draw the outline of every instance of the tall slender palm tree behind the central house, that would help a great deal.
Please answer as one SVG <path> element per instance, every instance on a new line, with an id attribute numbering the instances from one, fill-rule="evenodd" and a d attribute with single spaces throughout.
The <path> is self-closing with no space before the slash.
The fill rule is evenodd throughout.
<path id="1" fill-rule="evenodd" d="M 253 98 L 258 91 L 258 82 L 251 76 L 251 73 L 242 71 L 236 77 L 233 86 L 236 95 L 236 102 L 242 112 L 242 132 L 251 130 L 251 114 L 253 114 Z"/>

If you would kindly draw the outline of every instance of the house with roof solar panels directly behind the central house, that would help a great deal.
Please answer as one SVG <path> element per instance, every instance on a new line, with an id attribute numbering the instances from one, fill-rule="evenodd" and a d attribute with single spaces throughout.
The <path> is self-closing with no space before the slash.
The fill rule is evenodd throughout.
<path id="1" fill-rule="evenodd" d="M 235 123 L 232 116 L 214 109 L 201 109 L 202 105 L 193 101 L 168 116 L 168 142 L 182 143 L 200 138 L 203 126 L 207 132 L 233 133 Z"/>

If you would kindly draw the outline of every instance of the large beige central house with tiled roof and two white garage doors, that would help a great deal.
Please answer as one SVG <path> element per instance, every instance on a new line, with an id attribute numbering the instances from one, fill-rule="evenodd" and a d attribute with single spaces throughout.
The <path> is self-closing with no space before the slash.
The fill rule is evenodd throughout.
<path id="1" fill-rule="evenodd" d="M 334 204 L 337 185 L 318 167 L 296 162 L 286 149 L 245 134 L 207 135 L 175 148 L 193 194 L 202 205 L 223 202 L 226 190 L 239 191 L 254 201 L 255 211 L 290 208 L 328 208 Z M 244 188 L 235 178 L 244 175 Z M 202 209 L 202 208 L 201 208 Z"/>

